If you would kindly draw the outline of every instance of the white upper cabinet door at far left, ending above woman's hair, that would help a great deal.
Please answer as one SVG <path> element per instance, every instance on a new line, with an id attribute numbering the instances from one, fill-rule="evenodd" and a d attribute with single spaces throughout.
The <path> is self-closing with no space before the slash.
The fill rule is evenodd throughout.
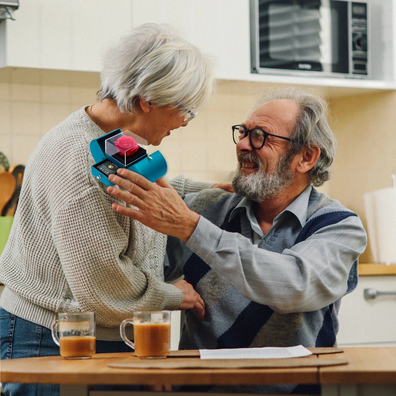
<path id="1" fill-rule="evenodd" d="M 14 16 L 0 22 L 0 67 L 100 71 L 132 26 L 126 0 L 21 0 Z"/>

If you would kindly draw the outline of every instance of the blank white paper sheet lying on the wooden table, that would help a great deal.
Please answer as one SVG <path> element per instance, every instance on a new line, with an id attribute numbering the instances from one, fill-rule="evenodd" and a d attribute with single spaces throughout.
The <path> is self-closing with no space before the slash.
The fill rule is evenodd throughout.
<path id="1" fill-rule="evenodd" d="M 201 359 L 274 359 L 301 358 L 312 355 L 312 352 L 302 345 L 286 348 L 235 348 L 235 349 L 200 349 Z"/>

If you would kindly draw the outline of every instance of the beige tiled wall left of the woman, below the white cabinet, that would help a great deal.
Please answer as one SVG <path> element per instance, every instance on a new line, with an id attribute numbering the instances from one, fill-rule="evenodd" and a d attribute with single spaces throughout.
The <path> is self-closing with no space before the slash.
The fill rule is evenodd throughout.
<path id="1" fill-rule="evenodd" d="M 0 69 L 0 151 L 26 164 L 49 129 L 95 102 L 99 84 L 98 73 Z"/>

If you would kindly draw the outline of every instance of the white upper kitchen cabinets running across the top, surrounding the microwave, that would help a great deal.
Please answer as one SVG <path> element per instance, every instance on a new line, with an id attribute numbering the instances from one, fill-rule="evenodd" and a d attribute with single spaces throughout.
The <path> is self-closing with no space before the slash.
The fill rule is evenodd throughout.
<path id="1" fill-rule="evenodd" d="M 154 22 L 212 53 L 221 80 L 396 89 L 396 0 L 367 2 L 370 80 L 252 74 L 249 0 L 21 0 L 16 20 L 0 22 L 0 67 L 100 71 L 101 55 L 123 32 Z"/>

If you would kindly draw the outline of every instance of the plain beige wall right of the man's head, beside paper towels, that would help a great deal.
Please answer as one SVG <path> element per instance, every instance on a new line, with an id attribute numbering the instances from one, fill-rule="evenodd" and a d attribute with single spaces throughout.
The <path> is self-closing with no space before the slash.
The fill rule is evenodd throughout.
<path id="1" fill-rule="evenodd" d="M 331 103 L 338 150 L 328 188 L 333 198 L 358 213 L 365 227 L 364 193 L 391 187 L 390 175 L 396 171 L 395 108 L 395 91 Z M 372 262 L 369 246 L 360 262 Z"/>

